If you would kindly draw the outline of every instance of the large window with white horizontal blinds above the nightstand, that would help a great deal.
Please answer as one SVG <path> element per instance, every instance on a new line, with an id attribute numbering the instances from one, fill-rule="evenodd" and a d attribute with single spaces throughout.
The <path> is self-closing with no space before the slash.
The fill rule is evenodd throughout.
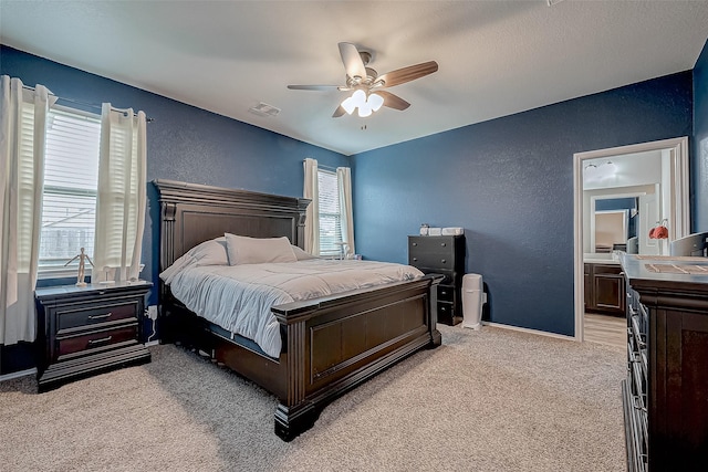
<path id="1" fill-rule="evenodd" d="M 93 255 L 100 141 L 100 116 L 65 107 L 50 109 L 40 274 L 59 275 L 80 248 Z"/>

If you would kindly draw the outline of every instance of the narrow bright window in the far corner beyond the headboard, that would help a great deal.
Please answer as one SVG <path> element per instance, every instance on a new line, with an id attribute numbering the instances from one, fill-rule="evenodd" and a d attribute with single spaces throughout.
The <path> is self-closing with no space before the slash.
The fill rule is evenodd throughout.
<path id="1" fill-rule="evenodd" d="M 320 255 L 342 255 L 340 190 L 336 174 L 317 169 L 317 202 L 320 204 Z"/>

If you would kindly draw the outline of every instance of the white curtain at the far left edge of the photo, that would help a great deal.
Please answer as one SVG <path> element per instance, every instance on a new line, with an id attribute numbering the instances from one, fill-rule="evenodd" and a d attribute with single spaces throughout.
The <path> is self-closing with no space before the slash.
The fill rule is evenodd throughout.
<path id="1" fill-rule="evenodd" d="M 0 344 L 11 345 L 37 334 L 46 114 L 56 98 L 8 75 L 0 88 Z"/>

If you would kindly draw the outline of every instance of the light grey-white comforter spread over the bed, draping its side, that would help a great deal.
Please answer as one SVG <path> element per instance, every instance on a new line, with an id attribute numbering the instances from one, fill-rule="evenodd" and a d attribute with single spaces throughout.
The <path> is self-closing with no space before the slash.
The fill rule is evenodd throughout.
<path id="1" fill-rule="evenodd" d="M 282 348 L 271 307 L 423 276 L 404 264 L 331 261 L 187 266 L 170 277 L 177 300 L 198 316 L 252 339 L 269 356 Z"/>

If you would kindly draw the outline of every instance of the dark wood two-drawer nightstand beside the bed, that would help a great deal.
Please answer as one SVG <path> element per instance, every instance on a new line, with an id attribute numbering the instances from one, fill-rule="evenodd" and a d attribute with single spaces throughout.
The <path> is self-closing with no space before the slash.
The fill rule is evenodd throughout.
<path id="1" fill-rule="evenodd" d="M 39 390 L 150 361 L 142 343 L 149 282 L 66 285 L 34 291 Z"/>

